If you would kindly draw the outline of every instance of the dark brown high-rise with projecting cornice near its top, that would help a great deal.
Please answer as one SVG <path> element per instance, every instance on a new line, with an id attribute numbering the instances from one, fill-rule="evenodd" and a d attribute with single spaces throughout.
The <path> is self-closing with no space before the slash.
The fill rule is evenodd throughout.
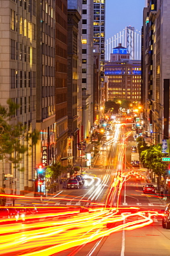
<path id="1" fill-rule="evenodd" d="M 74 163 L 78 155 L 81 137 L 81 0 L 68 0 L 68 71 L 67 71 L 67 116 L 68 116 L 68 159 Z M 80 152 L 80 151 L 79 151 Z"/>

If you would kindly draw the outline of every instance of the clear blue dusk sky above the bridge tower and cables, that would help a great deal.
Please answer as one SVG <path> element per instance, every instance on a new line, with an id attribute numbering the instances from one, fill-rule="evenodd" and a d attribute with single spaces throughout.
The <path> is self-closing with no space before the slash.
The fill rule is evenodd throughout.
<path id="1" fill-rule="evenodd" d="M 105 0 L 106 2 L 106 36 L 105 39 L 122 31 L 126 26 L 134 26 L 141 31 L 142 12 L 146 0 Z"/>

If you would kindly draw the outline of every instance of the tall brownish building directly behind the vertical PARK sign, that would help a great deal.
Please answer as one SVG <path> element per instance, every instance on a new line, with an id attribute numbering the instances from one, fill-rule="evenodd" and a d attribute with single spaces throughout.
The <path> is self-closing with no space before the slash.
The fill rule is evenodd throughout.
<path id="1" fill-rule="evenodd" d="M 55 1 L 36 0 L 36 165 L 55 161 Z"/>

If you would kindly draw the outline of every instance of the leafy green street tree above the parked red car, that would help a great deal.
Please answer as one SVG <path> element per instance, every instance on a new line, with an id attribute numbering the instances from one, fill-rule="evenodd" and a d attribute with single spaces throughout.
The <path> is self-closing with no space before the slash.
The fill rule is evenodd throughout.
<path id="1" fill-rule="evenodd" d="M 160 186 L 160 177 L 164 175 L 167 170 L 167 163 L 162 161 L 162 157 L 164 157 L 162 144 L 151 145 L 140 154 L 140 161 L 144 167 L 158 175 L 158 188 Z"/>

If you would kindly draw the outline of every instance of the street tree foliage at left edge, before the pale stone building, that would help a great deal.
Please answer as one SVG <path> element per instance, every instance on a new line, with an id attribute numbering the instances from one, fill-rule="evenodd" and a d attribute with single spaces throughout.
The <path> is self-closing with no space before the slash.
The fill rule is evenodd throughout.
<path id="1" fill-rule="evenodd" d="M 39 140 L 39 131 L 30 132 L 28 126 L 23 123 L 10 122 L 19 105 L 11 100 L 7 103 L 8 107 L 0 104 L 0 159 L 13 163 L 14 168 L 17 169 L 23 159 L 23 154 L 28 152 L 28 146 L 24 145 L 24 141 L 28 141 L 27 144 L 33 147 Z"/>

